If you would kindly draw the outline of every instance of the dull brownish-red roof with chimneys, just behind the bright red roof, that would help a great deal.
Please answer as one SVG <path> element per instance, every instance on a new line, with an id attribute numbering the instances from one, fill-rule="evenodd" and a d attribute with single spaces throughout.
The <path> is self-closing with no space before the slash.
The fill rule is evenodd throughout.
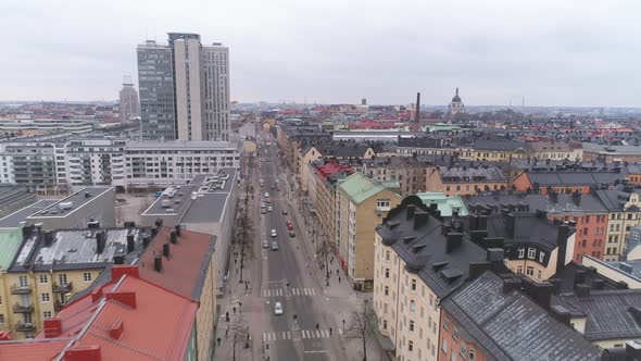
<path id="1" fill-rule="evenodd" d="M 140 277 L 169 289 L 183 297 L 199 300 L 201 277 L 213 252 L 211 236 L 204 233 L 180 231 L 176 244 L 169 242 L 173 228 L 165 227 L 155 236 L 140 257 Z M 154 270 L 154 256 L 163 253 L 163 245 L 169 242 L 169 259 L 163 257 L 162 271 Z M 211 247 L 211 248 L 210 248 Z"/>

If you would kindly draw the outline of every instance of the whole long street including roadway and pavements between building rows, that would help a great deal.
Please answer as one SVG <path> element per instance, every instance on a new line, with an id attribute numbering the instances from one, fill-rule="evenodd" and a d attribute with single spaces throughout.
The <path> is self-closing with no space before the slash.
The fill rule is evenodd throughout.
<path id="1" fill-rule="evenodd" d="M 343 327 L 349 328 L 352 310 L 362 307 L 370 295 L 352 290 L 337 261 L 329 264 L 331 276 L 329 285 L 325 284 L 324 263 L 315 254 L 311 229 L 304 227 L 296 197 L 289 194 L 291 182 L 288 172 L 278 165 L 274 139 L 261 133 L 257 141 L 260 157 L 257 169 L 249 179 L 254 189 L 249 208 L 250 216 L 254 217 L 252 224 L 260 227 L 254 229 L 256 239 L 252 242 L 251 259 L 244 261 L 243 276 L 250 284 L 246 290 L 238 283 L 238 270 L 234 269 L 240 262 L 230 262 L 230 292 L 227 291 L 227 299 L 221 300 L 217 336 L 222 335 L 223 340 L 215 358 L 232 359 L 234 345 L 229 344 L 234 344 L 234 338 L 225 329 L 235 323 L 235 318 L 242 318 L 251 341 L 249 348 L 244 343 L 236 345 L 237 360 L 363 360 L 362 340 L 344 337 Z M 267 141 L 272 145 L 267 146 Z M 263 186 L 259 179 L 263 179 Z M 273 211 L 261 214 L 261 203 Z M 294 237 L 290 237 L 287 222 L 291 222 Z M 276 231 L 276 237 L 272 237 L 272 229 Z M 267 248 L 262 247 L 264 240 Z M 272 250 L 273 241 L 278 250 Z M 282 314 L 275 314 L 276 302 L 282 304 Z M 226 312 L 230 322 L 225 321 Z M 381 357 L 382 351 L 373 338 L 367 359 L 381 360 Z"/>

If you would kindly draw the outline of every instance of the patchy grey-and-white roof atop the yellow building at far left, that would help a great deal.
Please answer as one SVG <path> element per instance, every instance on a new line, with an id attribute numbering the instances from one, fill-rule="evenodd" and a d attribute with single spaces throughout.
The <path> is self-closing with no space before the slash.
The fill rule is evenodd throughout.
<path id="1" fill-rule="evenodd" d="M 125 262 L 138 257 L 143 249 L 142 237 L 147 234 L 142 228 L 29 228 L 9 272 L 104 269 L 114 263 L 115 256 L 123 256 Z M 127 249 L 128 236 L 134 241 L 131 251 Z M 100 240 L 102 237 L 103 241 Z"/>

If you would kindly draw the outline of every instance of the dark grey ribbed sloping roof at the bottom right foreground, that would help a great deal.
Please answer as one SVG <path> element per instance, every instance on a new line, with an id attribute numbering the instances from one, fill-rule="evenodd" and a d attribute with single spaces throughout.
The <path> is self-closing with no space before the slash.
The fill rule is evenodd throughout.
<path id="1" fill-rule="evenodd" d="M 497 360 L 599 360 L 599 351 L 518 290 L 503 292 L 492 272 L 441 302 L 487 353 Z"/>

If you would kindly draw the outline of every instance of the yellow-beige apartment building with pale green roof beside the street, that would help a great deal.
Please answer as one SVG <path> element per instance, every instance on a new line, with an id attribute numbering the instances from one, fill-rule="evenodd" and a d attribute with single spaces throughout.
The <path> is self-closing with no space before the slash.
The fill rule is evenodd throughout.
<path id="1" fill-rule="evenodd" d="M 401 202 L 398 182 L 373 179 L 354 173 L 337 189 L 335 246 L 341 267 L 362 290 L 373 287 L 375 228 Z"/>

